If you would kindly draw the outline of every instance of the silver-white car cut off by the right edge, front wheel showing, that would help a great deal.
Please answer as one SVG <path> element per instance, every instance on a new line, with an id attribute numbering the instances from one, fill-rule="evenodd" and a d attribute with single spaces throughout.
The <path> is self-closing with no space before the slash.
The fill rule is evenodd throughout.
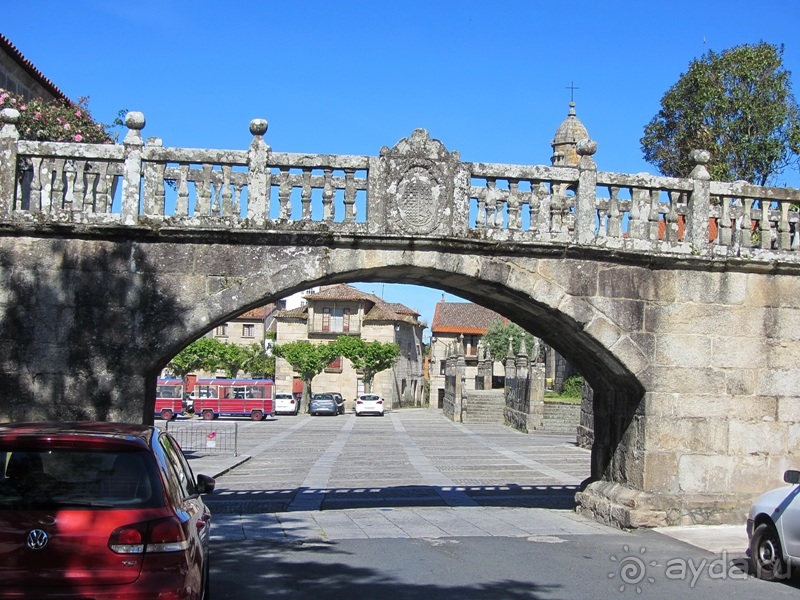
<path id="1" fill-rule="evenodd" d="M 791 485 L 761 495 L 747 515 L 747 555 L 767 581 L 788 579 L 800 566 L 800 471 L 786 471 L 783 480 Z"/>

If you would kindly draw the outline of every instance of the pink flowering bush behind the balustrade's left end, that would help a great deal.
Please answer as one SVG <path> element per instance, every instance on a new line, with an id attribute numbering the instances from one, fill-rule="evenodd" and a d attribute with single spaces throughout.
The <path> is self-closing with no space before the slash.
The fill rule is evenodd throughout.
<path id="1" fill-rule="evenodd" d="M 88 98 L 77 103 L 63 100 L 27 100 L 0 88 L 0 109 L 19 111 L 17 130 L 24 140 L 109 144 L 116 139 L 109 127 L 96 123 L 88 108 Z"/>

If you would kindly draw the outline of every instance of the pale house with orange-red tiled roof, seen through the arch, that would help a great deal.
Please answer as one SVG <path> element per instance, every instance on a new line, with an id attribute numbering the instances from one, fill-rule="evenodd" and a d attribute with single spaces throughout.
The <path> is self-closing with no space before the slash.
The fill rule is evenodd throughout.
<path id="1" fill-rule="evenodd" d="M 431 325 L 431 349 L 429 353 L 429 379 L 431 406 L 442 407 L 444 402 L 445 358 L 458 345 L 466 359 L 468 388 L 474 389 L 478 374 L 478 359 L 481 338 L 496 322 L 505 322 L 502 315 L 472 302 L 446 302 L 444 297 L 436 303 Z M 496 372 L 501 373 L 500 367 Z"/>

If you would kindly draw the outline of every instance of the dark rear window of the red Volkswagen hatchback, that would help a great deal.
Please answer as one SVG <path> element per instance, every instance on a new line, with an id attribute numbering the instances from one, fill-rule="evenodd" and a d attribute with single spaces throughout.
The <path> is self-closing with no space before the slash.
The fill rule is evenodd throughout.
<path id="1" fill-rule="evenodd" d="M 0 466 L 0 510 L 164 505 L 148 452 L 0 447 Z"/>

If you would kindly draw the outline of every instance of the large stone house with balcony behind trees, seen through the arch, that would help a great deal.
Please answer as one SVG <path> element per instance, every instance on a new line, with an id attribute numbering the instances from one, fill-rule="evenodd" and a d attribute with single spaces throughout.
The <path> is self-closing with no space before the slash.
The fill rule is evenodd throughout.
<path id="1" fill-rule="evenodd" d="M 346 284 L 321 287 L 303 299 L 304 305 L 275 313 L 276 344 L 301 340 L 326 343 L 340 335 L 359 336 L 367 342 L 395 343 L 400 347 L 400 356 L 392 369 L 375 376 L 372 391 L 387 400 L 388 408 L 422 404 L 425 325 L 419 321 L 418 312 Z M 344 358 L 333 361 L 314 378 L 311 386 L 313 392 L 341 393 L 348 409 L 364 390 L 359 373 Z M 275 389 L 302 390 L 302 381 L 281 358 L 275 362 Z"/>

